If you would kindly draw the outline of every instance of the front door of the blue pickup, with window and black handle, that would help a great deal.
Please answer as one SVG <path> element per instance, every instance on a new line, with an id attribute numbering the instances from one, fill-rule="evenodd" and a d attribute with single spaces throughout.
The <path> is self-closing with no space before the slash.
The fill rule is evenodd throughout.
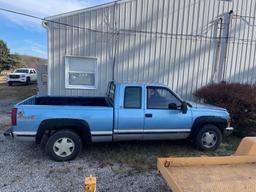
<path id="1" fill-rule="evenodd" d="M 146 90 L 143 139 L 183 139 L 192 126 L 191 110 L 183 114 L 181 101 L 168 88 L 148 86 Z M 169 104 L 178 106 L 169 109 Z"/>

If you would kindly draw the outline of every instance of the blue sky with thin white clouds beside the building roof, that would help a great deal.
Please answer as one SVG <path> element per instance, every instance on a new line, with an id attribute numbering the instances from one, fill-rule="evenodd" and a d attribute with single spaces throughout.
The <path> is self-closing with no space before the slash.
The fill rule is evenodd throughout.
<path id="1" fill-rule="evenodd" d="M 0 0 L 0 8 L 47 17 L 112 0 Z M 40 20 L 0 10 L 0 39 L 11 53 L 47 58 L 47 31 Z"/>

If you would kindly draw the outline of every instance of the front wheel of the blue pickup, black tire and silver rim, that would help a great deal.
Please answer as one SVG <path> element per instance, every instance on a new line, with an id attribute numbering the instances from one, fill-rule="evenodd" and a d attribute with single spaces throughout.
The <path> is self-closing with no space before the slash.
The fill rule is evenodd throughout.
<path id="1" fill-rule="evenodd" d="M 220 146 L 221 141 L 222 134 L 220 129 L 215 125 L 208 124 L 203 125 L 196 134 L 195 146 L 202 151 L 214 151 Z"/>

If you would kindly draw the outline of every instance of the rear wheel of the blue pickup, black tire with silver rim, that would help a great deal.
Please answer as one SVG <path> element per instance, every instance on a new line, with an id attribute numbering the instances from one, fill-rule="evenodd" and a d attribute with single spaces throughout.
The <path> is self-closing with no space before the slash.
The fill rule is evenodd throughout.
<path id="1" fill-rule="evenodd" d="M 65 146 L 65 139 L 68 139 L 69 145 L 72 146 Z M 65 150 L 63 151 L 61 148 L 58 149 L 58 145 L 63 145 L 62 142 L 64 143 L 65 150 L 68 152 L 66 153 Z M 54 161 L 70 161 L 75 159 L 78 154 L 80 153 L 82 149 L 82 141 L 81 138 L 77 133 L 71 130 L 60 130 L 52 134 L 47 143 L 46 143 L 46 153 L 50 157 L 50 159 Z M 63 153 L 61 153 L 61 150 Z M 70 153 L 70 154 L 68 154 Z"/>

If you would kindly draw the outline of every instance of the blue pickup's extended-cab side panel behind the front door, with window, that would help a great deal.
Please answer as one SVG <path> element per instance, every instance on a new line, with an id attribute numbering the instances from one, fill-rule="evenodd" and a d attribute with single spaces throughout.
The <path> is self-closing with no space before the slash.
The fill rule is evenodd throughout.
<path id="1" fill-rule="evenodd" d="M 114 140 L 141 140 L 144 127 L 142 86 L 125 86 L 119 91 L 121 103 L 117 112 Z"/>

